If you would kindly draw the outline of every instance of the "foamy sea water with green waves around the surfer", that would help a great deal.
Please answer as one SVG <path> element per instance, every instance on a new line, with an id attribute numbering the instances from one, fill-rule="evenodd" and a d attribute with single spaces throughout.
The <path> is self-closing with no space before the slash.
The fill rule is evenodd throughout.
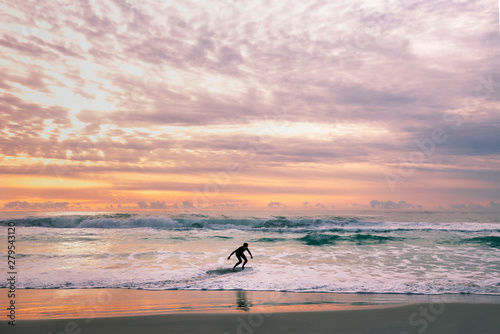
<path id="1" fill-rule="evenodd" d="M 499 213 L 4 212 L 1 221 L 5 242 L 6 223 L 16 225 L 18 288 L 500 295 Z M 250 270 L 231 272 L 237 259 L 227 257 L 244 242 Z"/>

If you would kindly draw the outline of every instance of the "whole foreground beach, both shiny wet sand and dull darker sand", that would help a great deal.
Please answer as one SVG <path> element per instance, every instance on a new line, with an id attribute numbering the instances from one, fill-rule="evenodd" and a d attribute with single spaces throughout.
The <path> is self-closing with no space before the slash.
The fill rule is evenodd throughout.
<path id="1" fill-rule="evenodd" d="M 5 289 L 2 306 L 5 305 Z M 497 333 L 498 296 L 20 290 L 2 333 Z"/>

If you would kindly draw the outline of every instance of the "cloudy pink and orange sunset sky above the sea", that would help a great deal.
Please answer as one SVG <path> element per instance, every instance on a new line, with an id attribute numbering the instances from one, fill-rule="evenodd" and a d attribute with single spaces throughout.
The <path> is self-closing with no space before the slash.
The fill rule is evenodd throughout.
<path id="1" fill-rule="evenodd" d="M 0 4 L 0 207 L 495 207 L 493 0 Z"/>

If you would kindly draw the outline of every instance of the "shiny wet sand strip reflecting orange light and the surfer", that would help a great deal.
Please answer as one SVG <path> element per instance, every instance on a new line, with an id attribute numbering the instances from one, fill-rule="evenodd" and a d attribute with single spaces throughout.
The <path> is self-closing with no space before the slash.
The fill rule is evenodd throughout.
<path id="1" fill-rule="evenodd" d="M 8 306 L 7 293 L 8 289 L 0 289 L 2 307 Z M 500 296 L 254 290 L 17 289 L 16 319 L 324 312 L 443 303 L 500 306 Z"/>

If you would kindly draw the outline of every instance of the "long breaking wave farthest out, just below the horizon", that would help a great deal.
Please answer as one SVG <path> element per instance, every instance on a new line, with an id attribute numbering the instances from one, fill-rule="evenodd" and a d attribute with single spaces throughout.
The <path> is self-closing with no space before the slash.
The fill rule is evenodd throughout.
<path id="1" fill-rule="evenodd" d="M 211 230 L 261 230 L 276 232 L 307 233 L 377 233 L 386 234 L 399 231 L 452 231 L 452 232 L 494 232 L 500 233 L 497 223 L 421 223 L 421 222 L 384 222 L 360 221 L 351 217 L 291 218 L 275 216 L 270 218 L 232 218 L 227 216 L 209 217 L 204 215 L 154 216 L 139 214 L 100 214 L 70 215 L 55 217 L 28 217 L 2 220 L 0 223 L 14 221 L 17 226 L 44 228 L 158 228 L 158 229 L 211 229 Z M 362 239 L 363 237 L 359 237 Z M 496 237 L 494 237 L 496 238 Z M 379 238 L 384 242 L 385 239 Z M 375 239 L 371 239 L 375 241 Z M 385 240 L 386 241 L 386 240 Z M 496 244 L 497 241 L 491 241 Z"/>

